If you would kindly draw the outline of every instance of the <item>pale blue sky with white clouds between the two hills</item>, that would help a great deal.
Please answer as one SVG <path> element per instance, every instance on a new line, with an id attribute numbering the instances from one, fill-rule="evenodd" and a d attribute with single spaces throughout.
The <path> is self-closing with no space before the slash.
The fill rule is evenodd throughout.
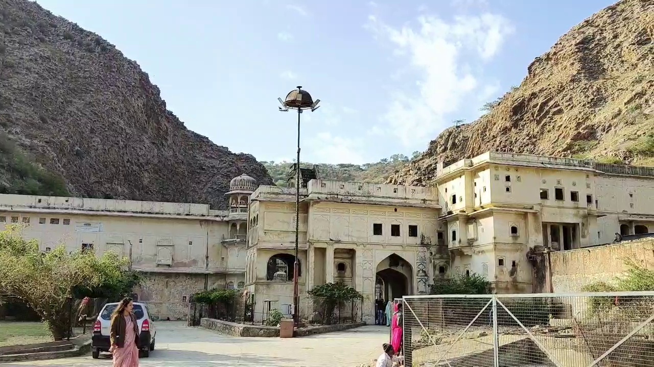
<path id="1" fill-rule="evenodd" d="M 426 150 L 519 86 L 609 0 L 37 0 L 141 65 L 188 129 L 260 161 L 371 163 Z"/>

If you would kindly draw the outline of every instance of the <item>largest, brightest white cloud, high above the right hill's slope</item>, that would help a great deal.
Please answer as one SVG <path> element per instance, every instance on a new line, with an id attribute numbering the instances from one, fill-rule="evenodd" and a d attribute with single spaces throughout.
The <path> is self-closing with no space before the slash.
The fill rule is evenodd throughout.
<path id="1" fill-rule="evenodd" d="M 458 112 L 464 98 L 487 89 L 470 64 L 492 59 L 513 33 L 506 18 L 490 13 L 457 16 L 453 22 L 421 16 L 418 24 L 418 29 L 395 28 L 370 16 L 366 25 L 378 39 L 389 41 L 394 54 L 406 59 L 417 73 L 409 88 L 391 92 L 383 116 L 387 126 L 375 127 L 375 133 L 388 131 L 405 146 L 433 138 L 447 127 L 447 115 Z"/>

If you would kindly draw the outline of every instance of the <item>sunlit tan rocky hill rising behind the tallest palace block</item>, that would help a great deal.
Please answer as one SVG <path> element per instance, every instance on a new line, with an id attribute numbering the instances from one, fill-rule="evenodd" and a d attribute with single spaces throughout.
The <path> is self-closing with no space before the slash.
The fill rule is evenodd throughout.
<path id="1" fill-rule="evenodd" d="M 584 20 L 490 106 L 388 182 L 426 183 L 439 161 L 489 150 L 654 165 L 654 0 L 619 1 Z"/>

